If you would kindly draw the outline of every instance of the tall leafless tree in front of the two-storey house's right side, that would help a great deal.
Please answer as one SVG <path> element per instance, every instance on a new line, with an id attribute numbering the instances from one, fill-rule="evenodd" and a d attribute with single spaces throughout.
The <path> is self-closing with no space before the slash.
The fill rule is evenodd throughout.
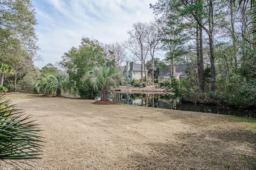
<path id="1" fill-rule="evenodd" d="M 143 65 L 145 80 L 147 82 L 146 76 L 146 58 L 148 56 L 149 44 L 147 41 L 147 23 L 137 22 L 132 25 L 133 29 L 128 31 L 130 35 L 129 39 L 125 42 L 124 47 L 126 47 L 132 54 L 141 61 L 141 81 L 143 82 Z"/>

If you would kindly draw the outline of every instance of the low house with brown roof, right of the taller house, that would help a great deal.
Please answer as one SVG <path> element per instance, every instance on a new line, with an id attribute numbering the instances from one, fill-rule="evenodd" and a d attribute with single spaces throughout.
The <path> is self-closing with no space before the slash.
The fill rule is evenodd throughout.
<path id="1" fill-rule="evenodd" d="M 188 75 L 195 72 L 195 64 L 179 64 L 173 66 L 173 78 L 181 81 L 188 78 Z M 170 80 L 170 67 L 159 72 L 158 80 Z"/>

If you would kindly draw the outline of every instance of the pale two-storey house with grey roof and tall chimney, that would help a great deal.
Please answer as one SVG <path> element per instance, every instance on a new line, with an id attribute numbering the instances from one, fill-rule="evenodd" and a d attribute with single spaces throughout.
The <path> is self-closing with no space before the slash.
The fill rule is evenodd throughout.
<path id="1" fill-rule="evenodd" d="M 145 77 L 144 67 L 142 68 L 142 76 Z M 134 62 L 126 62 L 126 66 L 122 67 L 123 75 L 127 76 L 127 82 L 131 80 L 141 79 L 141 64 L 136 64 Z M 146 68 L 146 76 L 148 76 L 148 70 Z"/>

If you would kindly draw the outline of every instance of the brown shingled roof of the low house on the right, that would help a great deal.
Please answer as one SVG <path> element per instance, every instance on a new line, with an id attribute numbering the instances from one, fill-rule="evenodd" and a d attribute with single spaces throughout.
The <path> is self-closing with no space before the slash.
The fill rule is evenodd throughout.
<path id="1" fill-rule="evenodd" d="M 175 73 L 174 73 L 174 77 L 177 76 L 188 76 L 188 74 L 186 72 L 190 72 L 193 73 L 194 72 L 194 67 L 195 64 L 179 64 L 179 65 L 174 65 L 175 66 Z M 189 70 L 188 70 L 189 68 Z M 164 69 L 163 71 L 159 72 L 158 77 L 168 77 L 170 76 L 170 67 Z"/>

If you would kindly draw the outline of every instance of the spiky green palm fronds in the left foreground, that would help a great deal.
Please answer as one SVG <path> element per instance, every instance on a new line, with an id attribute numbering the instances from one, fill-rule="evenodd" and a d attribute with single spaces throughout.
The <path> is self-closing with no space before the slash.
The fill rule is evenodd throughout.
<path id="1" fill-rule="evenodd" d="M 30 118 L 19 109 L 14 109 L 10 100 L 0 97 L 0 160 L 15 169 L 21 167 L 20 163 L 30 165 L 21 160 L 38 159 L 42 152 L 40 143 L 43 141 L 38 134 L 41 130 Z"/>

